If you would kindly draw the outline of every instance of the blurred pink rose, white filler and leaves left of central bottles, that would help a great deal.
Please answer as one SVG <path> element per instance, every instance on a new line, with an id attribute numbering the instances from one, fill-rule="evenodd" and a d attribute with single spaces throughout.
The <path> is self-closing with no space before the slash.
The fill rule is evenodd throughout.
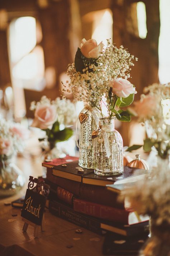
<path id="1" fill-rule="evenodd" d="M 72 129 L 65 127 L 76 121 L 75 105 L 70 100 L 58 97 L 51 101 L 43 96 L 39 102 L 31 102 L 30 110 L 34 111 L 32 126 L 46 132 L 46 137 L 40 141 L 48 140 L 53 147 L 56 142 L 68 140 L 72 136 Z"/>

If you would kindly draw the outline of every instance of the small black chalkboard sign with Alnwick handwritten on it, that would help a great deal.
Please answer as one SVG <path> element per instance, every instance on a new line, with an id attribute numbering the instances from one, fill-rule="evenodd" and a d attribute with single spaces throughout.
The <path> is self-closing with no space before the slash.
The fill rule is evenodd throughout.
<path id="1" fill-rule="evenodd" d="M 27 189 L 21 216 L 36 225 L 41 225 L 46 205 L 46 197 Z"/>

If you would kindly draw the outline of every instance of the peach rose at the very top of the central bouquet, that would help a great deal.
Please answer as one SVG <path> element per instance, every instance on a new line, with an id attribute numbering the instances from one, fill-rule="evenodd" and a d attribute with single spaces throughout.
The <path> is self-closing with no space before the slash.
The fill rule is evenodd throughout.
<path id="1" fill-rule="evenodd" d="M 103 51 L 104 44 L 101 43 L 98 45 L 95 39 L 86 39 L 81 40 L 81 53 L 86 58 L 98 58 Z"/>

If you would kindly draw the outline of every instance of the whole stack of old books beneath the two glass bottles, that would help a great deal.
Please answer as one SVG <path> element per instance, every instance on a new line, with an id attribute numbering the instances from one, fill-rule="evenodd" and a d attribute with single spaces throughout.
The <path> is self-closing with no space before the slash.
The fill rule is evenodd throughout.
<path id="1" fill-rule="evenodd" d="M 52 214 L 99 234 L 148 232 L 148 216 L 139 216 L 127 203 L 117 201 L 129 182 L 143 178 L 148 171 L 124 166 L 122 175 L 98 176 L 93 169 L 80 168 L 78 158 L 70 156 L 42 165 L 47 168 Z"/>

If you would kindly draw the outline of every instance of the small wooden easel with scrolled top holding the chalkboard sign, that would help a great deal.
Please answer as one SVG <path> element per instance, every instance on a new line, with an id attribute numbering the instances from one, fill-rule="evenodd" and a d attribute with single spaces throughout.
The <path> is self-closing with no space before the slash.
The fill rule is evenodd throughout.
<path id="1" fill-rule="evenodd" d="M 36 183 L 36 186 L 34 186 L 34 183 Z M 29 176 L 29 183 L 28 183 L 28 189 L 29 190 L 36 190 L 34 193 L 38 193 L 41 195 L 44 195 L 44 197 L 47 197 L 49 194 L 49 186 L 44 183 L 43 178 L 33 178 L 32 176 Z M 37 225 L 33 223 L 32 221 L 29 221 L 22 217 L 22 220 L 24 221 L 23 231 L 27 232 L 28 225 L 34 227 L 34 237 L 38 238 L 39 228 L 41 227 L 41 231 L 45 231 L 45 221 L 44 221 L 44 213 L 42 217 L 41 225 Z"/>

